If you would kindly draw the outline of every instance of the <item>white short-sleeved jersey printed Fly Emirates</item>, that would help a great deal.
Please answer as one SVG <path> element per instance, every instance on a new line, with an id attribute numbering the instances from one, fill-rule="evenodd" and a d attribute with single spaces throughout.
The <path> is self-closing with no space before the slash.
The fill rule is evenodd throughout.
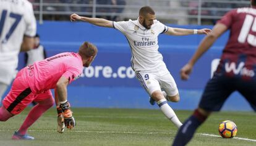
<path id="1" fill-rule="evenodd" d="M 165 64 L 158 52 L 158 35 L 168 31 L 168 26 L 158 20 L 148 30 L 140 25 L 139 20 L 113 22 L 114 28 L 121 31 L 130 44 L 132 68 L 134 71 L 152 71 Z"/>

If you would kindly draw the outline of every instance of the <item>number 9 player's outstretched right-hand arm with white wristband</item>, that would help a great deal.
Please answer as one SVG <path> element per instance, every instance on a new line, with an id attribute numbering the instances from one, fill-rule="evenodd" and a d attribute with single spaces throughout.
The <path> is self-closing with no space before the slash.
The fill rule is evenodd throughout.
<path id="1" fill-rule="evenodd" d="M 189 30 L 184 28 L 173 28 L 168 27 L 168 31 L 165 34 L 173 35 L 173 36 L 186 36 L 189 34 L 208 34 L 211 30 L 208 28 L 203 28 L 202 30 Z"/>

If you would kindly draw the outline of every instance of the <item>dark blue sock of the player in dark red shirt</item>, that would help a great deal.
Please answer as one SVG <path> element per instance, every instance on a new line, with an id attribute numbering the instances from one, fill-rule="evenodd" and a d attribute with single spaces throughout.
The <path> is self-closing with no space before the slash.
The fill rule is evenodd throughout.
<path id="1" fill-rule="evenodd" d="M 186 122 L 179 128 L 177 135 L 174 139 L 173 146 L 183 146 L 189 143 L 194 136 L 197 128 L 207 119 L 207 116 L 203 116 L 195 110 L 194 114 L 190 116 Z"/>

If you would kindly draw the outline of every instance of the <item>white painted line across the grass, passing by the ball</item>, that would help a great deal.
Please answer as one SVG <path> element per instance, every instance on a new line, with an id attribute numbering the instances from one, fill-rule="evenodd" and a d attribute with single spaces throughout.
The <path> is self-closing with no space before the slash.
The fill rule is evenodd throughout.
<path id="1" fill-rule="evenodd" d="M 12 131 L 0 129 L 0 131 Z M 57 132 L 53 130 L 28 130 L 31 132 Z M 80 132 L 80 133 L 114 133 L 114 134 L 171 134 L 171 132 L 132 132 L 132 131 L 65 131 L 65 132 Z M 198 133 L 200 136 L 209 136 L 209 137 L 221 137 L 215 134 L 207 134 L 207 133 Z M 245 140 L 250 142 L 256 142 L 256 139 L 247 139 L 241 137 L 233 137 L 233 139 Z"/>

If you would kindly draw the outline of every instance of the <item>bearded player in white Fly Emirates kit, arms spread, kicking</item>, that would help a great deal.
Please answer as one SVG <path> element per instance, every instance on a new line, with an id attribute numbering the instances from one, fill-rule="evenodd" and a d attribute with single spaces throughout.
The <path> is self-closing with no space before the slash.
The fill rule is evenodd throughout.
<path id="1" fill-rule="evenodd" d="M 155 12 L 149 6 L 140 9 L 137 20 L 122 22 L 112 22 L 103 18 L 81 17 L 77 14 L 70 15 L 71 21 L 82 20 L 93 25 L 115 28 L 126 36 L 132 52 L 130 62 L 137 79 L 139 79 L 151 99 L 158 103 L 164 115 L 179 128 L 182 123 L 167 103 L 167 100 L 178 102 L 179 92 L 173 76 L 171 76 L 163 62 L 163 56 L 158 52 L 158 35 L 161 33 L 176 36 L 208 34 L 211 30 L 171 28 L 163 25 L 155 18 Z M 163 92 L 161 89 L 163 89 Z"/>

